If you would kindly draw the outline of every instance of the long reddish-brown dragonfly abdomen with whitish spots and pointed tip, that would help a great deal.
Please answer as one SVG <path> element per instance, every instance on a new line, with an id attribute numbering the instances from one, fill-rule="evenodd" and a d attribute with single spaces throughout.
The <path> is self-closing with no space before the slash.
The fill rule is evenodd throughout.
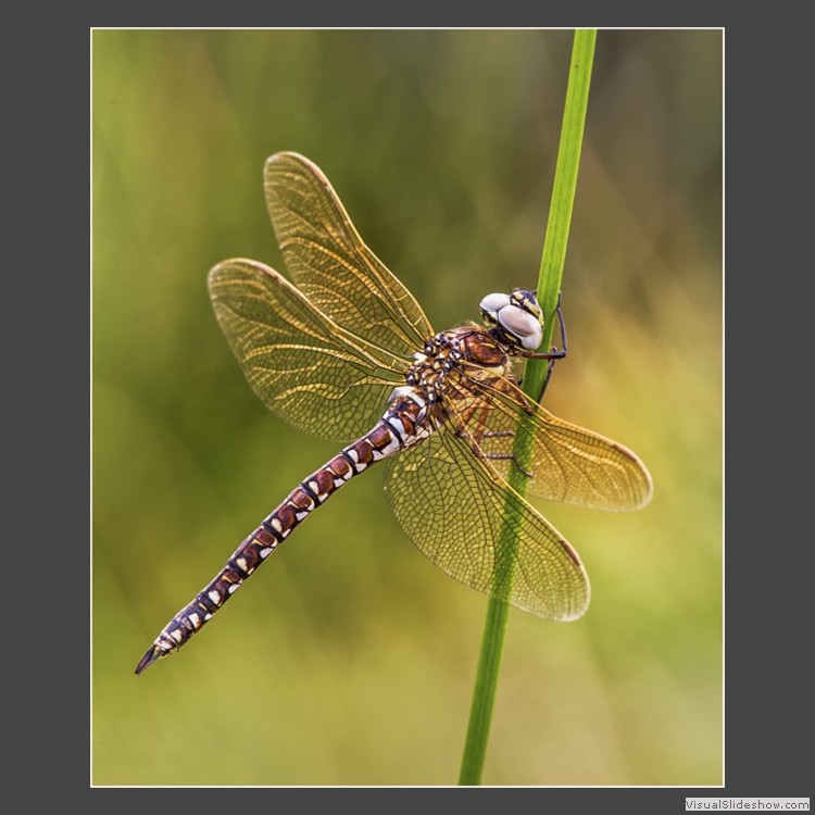
<path id="1" fill-rule="evenodd" d="M 156 660 L 177 651 L 238 590 L 277 547 L 343 484 L 372 464 L 426 438 L 418 428 L 424 400 L 414 389 L 400 392 L 374 428 L 340 450 L 289 493 L 276 510 L 235 550 L 224 568 L 167 623 L 136 666 L 140 674 Z"/>

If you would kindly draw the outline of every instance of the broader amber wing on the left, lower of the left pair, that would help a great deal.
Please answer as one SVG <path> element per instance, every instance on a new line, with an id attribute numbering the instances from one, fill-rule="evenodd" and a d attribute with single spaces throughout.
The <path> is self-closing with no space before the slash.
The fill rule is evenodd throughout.
<path id="1" fill-rule="evenodd" d="M 367 430 L 408 361 L 348 334 L 285 277 L 249 260 L 209 278 L 215 315 L 254 392 L 296 427 L 334 440 Z"/>

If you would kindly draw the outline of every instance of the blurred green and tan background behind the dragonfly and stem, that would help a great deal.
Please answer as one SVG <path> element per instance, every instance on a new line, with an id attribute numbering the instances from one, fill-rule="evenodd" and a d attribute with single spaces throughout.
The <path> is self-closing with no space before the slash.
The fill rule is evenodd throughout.
<path id="1" fill-rule="evenodd" d="M 178 655 L 136 662 L 337 446 L 267 413 L 205 278 L 283 268 L 265 158 L 297 150 L 438 328 L 538 275 L 567 30 L 92 35 L 96 785 L 454 785 L 486 598 L 354 479 Z M 649 465 L 631 514 L 539 504 L 584 618 L 513 612 L 484 782 L 717 785 L 722 34 L 600 32 L 555 414 Z"/>

